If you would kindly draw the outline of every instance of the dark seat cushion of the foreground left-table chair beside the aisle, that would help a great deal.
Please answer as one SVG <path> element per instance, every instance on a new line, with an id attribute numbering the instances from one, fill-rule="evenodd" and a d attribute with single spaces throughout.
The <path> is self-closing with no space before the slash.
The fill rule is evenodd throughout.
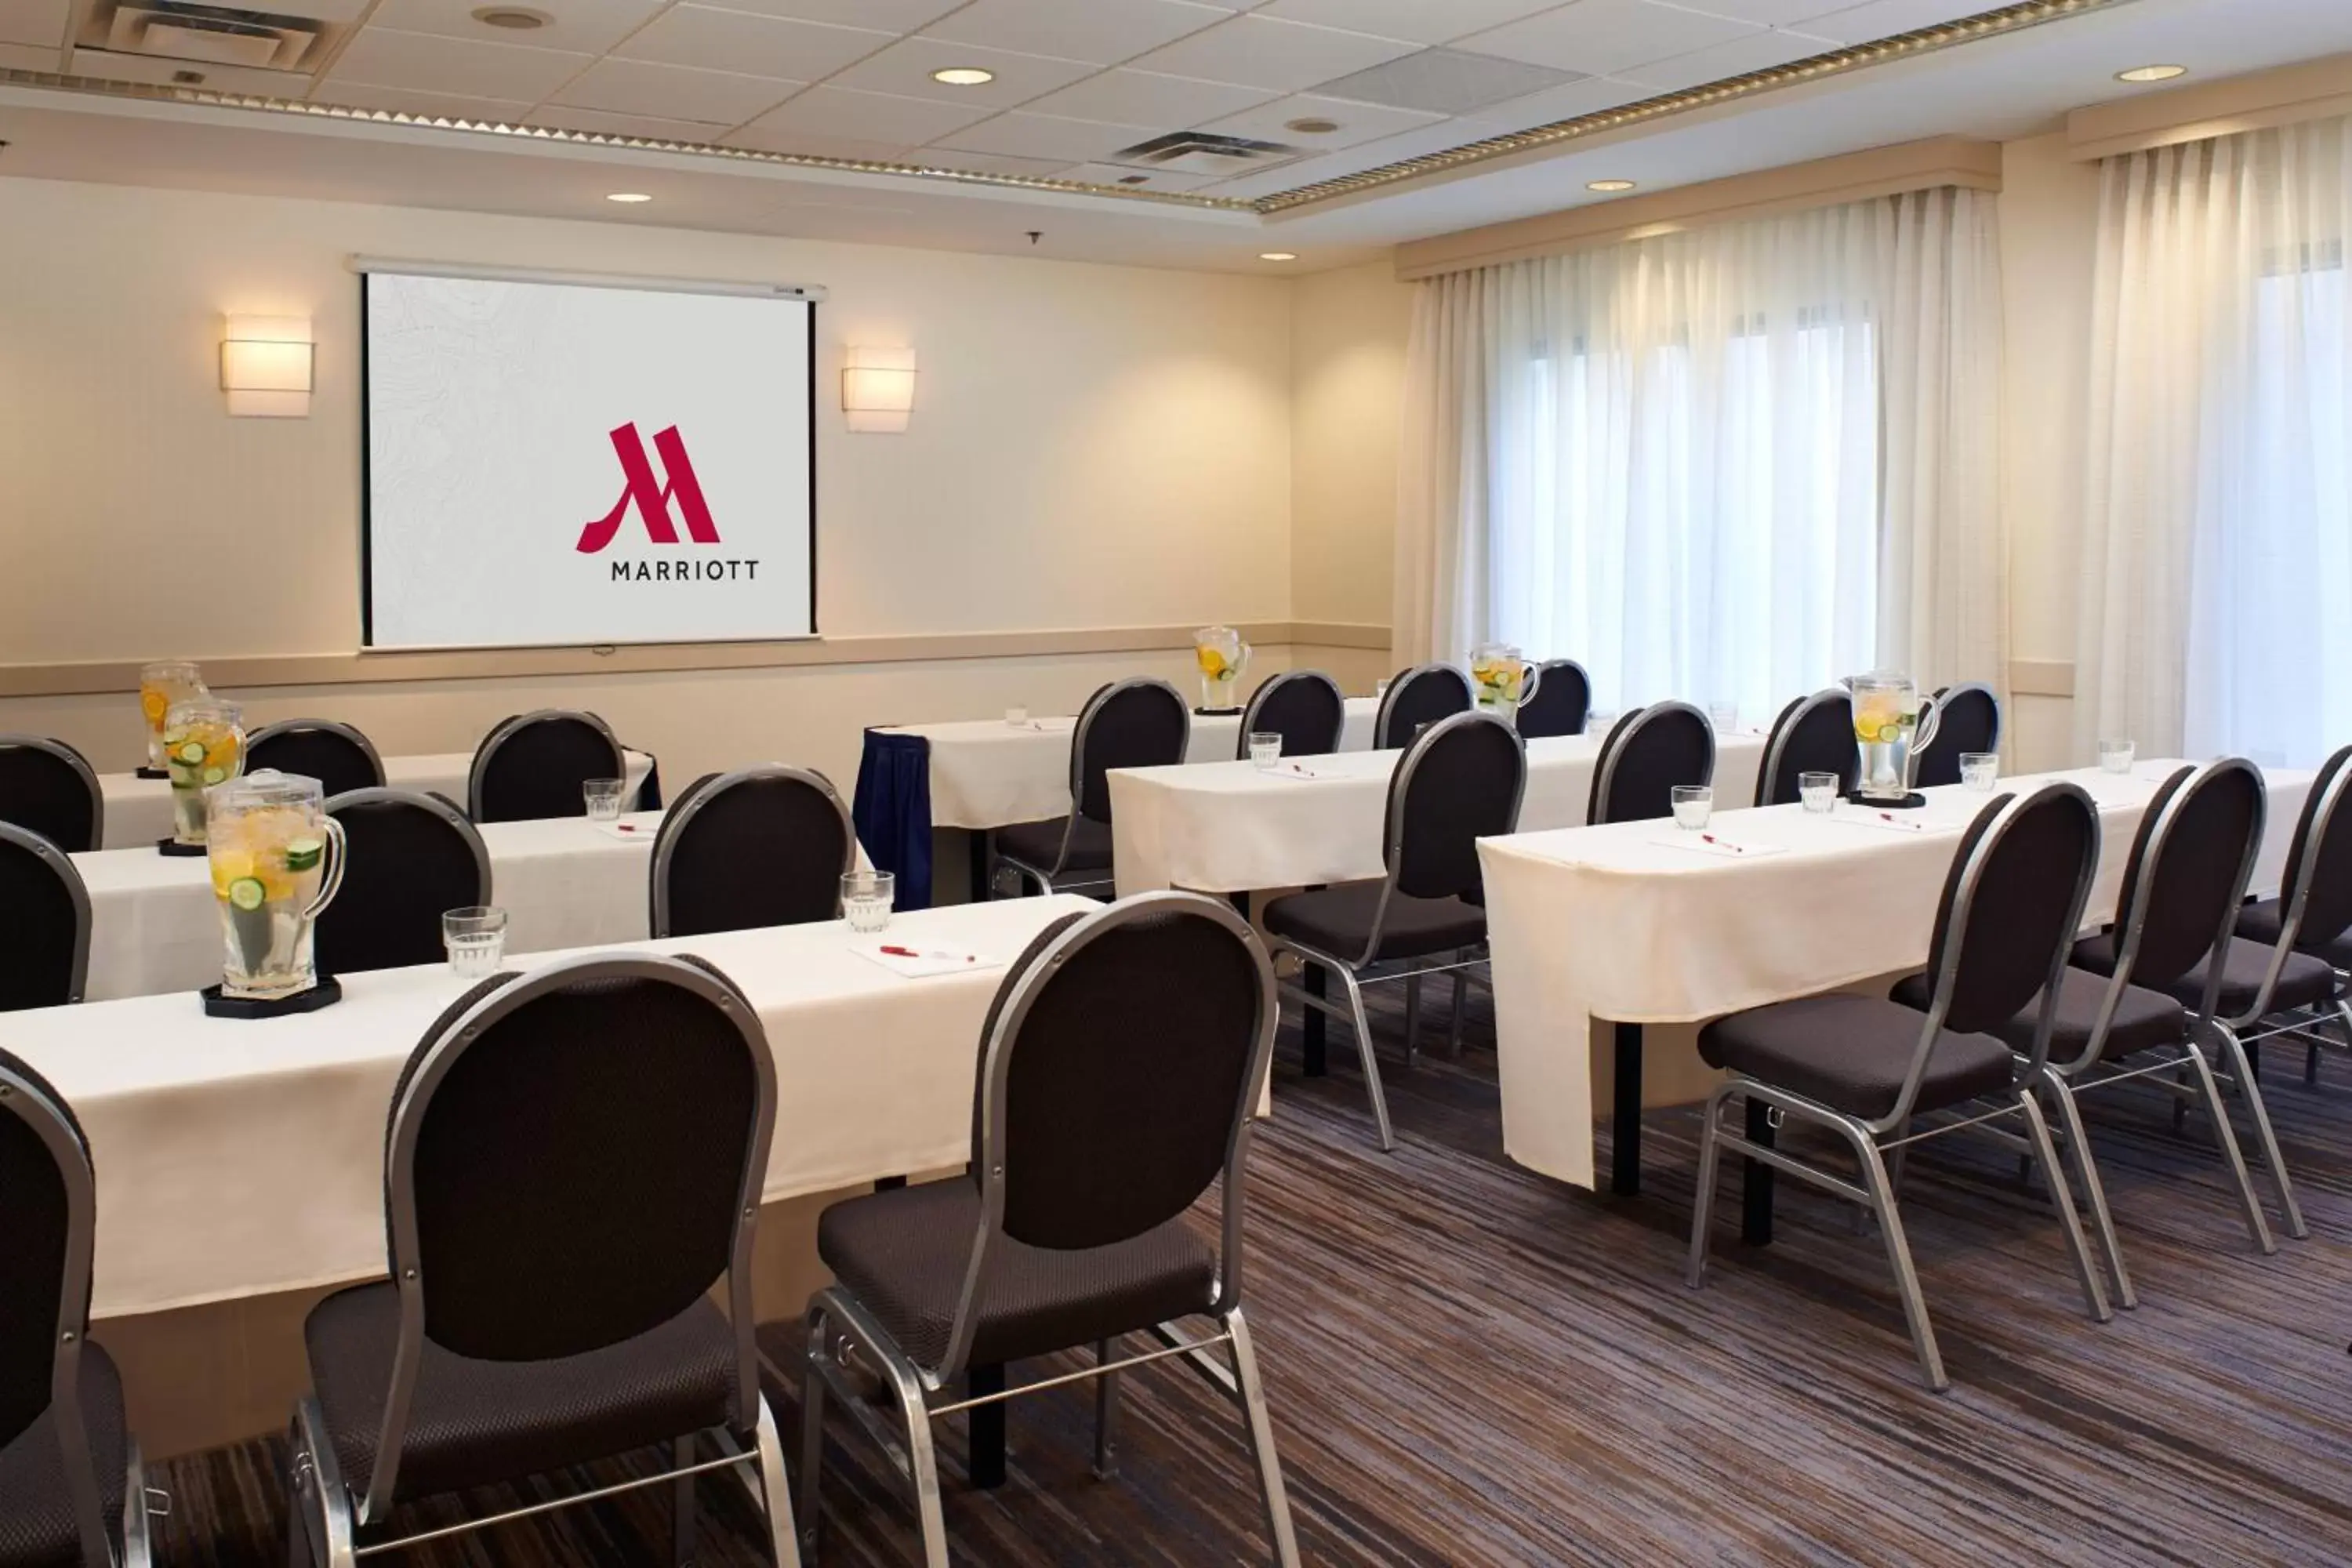
<path id="1" fill-rule="evenodd" d="M 920 1366 L 948 1356 L 955 1302 L 981 1227 L 969 1178 L 835 1204 L 816 1222 L 816 1255 Z M 1216 1253 L 1183 1218 L 1131 1241 L 1049 1251 L 997 1237 L 981 1274 L 971 1361 L 1018 1361 L 1094 1345 L 1216 1300 Z"/>

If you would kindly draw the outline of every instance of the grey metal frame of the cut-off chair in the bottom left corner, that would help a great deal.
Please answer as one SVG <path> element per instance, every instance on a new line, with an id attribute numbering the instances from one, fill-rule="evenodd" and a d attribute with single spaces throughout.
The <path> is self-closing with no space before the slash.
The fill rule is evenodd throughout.
<path id="1" fill-rule="evenodd" d="M 146 1462 L 139 1439 L 122 1434 L 127 1467 L 122 1476 L 122 1547 L 115 1549 L 106 1528 L 106 1500 L 99 1493 L 99 1469 L 82 1427 L 82 1345 L 89 1338 L 89 1258 L 96 1248 L 99 1194 L 89 1173 L 89 1145 L 73 1128 L 66 1110 L 49 1093 L 0 1063 L 0 1114 L 14 1114 L 49 1150 L 59 1182 L 66 1190 L 66 1269 L 59 1281 L 56 1354 L 49 1359 L 49 1432 L 61 1448 L 66 1490 L 73 1495 L 73 1526 L 82 1540 L 85 1568 L 151 1568 L 153 1528 L 148 1519 Z"/>

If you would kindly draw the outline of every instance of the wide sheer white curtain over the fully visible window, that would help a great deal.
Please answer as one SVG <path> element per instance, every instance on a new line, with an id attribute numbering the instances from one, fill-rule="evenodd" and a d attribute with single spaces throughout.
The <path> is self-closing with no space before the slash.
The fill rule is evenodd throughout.
<path id="1" fill-rule="evenodd" d="M 1999 679 L 1997 343 L 1966 190 L 1423 284 L 1399 649 L 1498 637 L 1606 705 L 1757 719 L 1882 663 Z"/>

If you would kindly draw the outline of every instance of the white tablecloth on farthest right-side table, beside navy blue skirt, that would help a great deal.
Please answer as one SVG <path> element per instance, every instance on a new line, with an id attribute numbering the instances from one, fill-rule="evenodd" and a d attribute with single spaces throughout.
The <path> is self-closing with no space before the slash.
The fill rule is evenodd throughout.
<path id="1" fill-rule="evenodd" d="M 1381 705 L 1369 696 L 1348 698 L 1341 750 L 1371 748 L 1371 722 Z M 891 736 L 924 736 L 931 743 L 931 825 L 1009 827 L 1070 813 L 1070 736 L 1077 719 L 1004 719 L 957 724 L 896 724 Z M 1237 717 L 1192 715 L 1185 762 L 1228 762 L 1242 743 Z"/>

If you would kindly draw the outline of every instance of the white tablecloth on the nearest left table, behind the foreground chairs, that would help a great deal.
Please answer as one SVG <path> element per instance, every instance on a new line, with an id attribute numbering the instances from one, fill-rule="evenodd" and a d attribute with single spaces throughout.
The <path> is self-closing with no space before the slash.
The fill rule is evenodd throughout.
<path id="1" fill-rule="evenodd" d="M 1002 964 L 1047 922 L 1091 907 L 1063 896 L 901 914 L 891 931 L 913 943 L 997 964 L 929 980 L 858 957 L 842 924 L 640 947 L 703 954 L 757 1009 L 779 1074 L 764 1197 L 781 1201 L 967 1159 L 981 1020 Z M 466 985 L 437 964 L 350 976 L 341 1004 L 268 1023 L 205 1018 L 195 997 L 0 1016 L 0 1044 L 89 1133 L 94 1312 L 379 1276 L 393 1081 Z"/>

